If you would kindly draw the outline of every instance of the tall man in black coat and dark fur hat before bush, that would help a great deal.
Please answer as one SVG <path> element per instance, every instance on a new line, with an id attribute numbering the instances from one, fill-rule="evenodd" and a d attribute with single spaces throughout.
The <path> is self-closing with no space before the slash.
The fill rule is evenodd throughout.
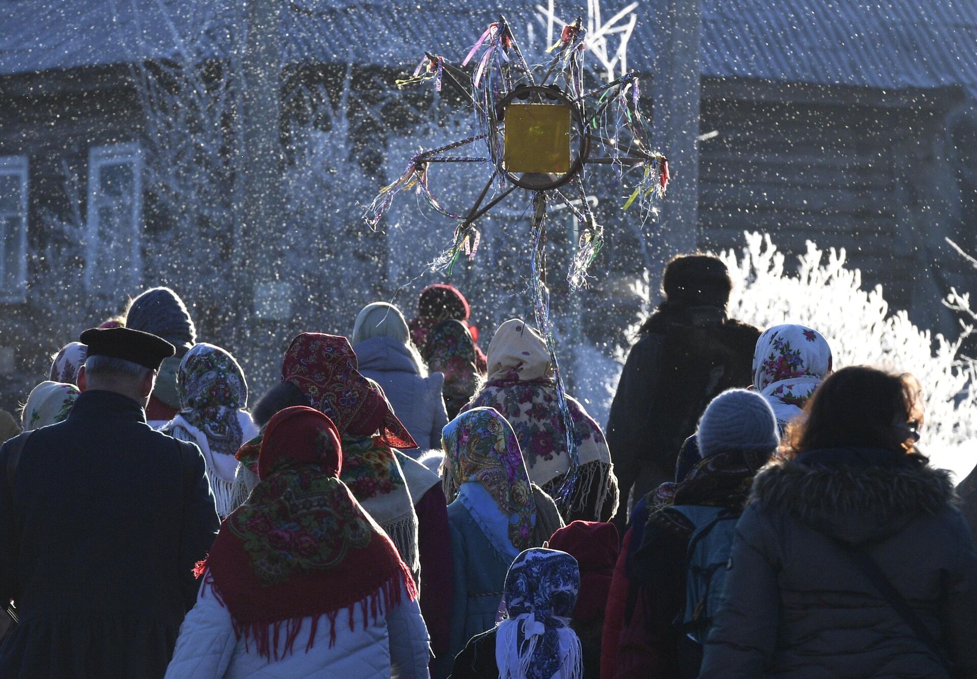
<path id="1" fill-rule="evenodd" d="M 639 330 L 608 418 L 620 528 L 627 523 L 629 492 L 637 502 L 675 480 L 679 448 L 696 431 L 705 406 L 753 381 L 760 331 L 727 318 L 732 288 L 726 265 L 715 257 L 685 255 L 665 267 L 665 299 Z"/>

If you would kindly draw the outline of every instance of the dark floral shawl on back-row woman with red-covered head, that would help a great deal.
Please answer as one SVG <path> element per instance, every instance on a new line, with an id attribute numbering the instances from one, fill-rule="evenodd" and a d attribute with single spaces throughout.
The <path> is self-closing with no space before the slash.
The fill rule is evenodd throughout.
<path id="1" fill-rule="evenodd" d="M 431 372 L 445 375 L 447 414 L 458 414 L 475 394 L 479 383 L 475 341 L 460 320 L 443 320 L 432 328 L 424 345 L 424 361 Z"/>

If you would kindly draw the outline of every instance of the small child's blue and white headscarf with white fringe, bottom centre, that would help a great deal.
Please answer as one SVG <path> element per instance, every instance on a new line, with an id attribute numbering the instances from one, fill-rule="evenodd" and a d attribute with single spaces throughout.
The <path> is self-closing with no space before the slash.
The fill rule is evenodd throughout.
<path id="1" fill-rule="evenodd" d="M 528 549 L 505 576 L 506 618 L 495 632 L 500 679 L 582 679 L 580 640 L 571 629 L 580 573 L 555 549 Z"/>

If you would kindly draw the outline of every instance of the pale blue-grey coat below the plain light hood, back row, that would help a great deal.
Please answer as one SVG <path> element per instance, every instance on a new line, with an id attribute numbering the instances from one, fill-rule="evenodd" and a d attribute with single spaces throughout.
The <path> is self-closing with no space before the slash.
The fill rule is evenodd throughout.
<path id="1" fill-rule="evenodd" d="M 371 337 L 355 346 L 360 372 L 383 387 L 394 414 L 404 423 L 417 443 L 419 454 L 441 447 L 441 430 L 447 424 L 445 400 L 441 391 L 445 376 L 434 372 L 421 377 L 413 357 L 403 343 L 390 337 Z"/>

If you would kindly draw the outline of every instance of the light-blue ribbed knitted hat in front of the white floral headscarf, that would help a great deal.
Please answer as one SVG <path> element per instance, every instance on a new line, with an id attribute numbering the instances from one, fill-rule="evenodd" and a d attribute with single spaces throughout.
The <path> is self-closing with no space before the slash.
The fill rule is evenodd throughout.
<path id="1" fill-rule="evenodd" d="M 773 452 L 781 443 L 770 404 L 745 389 L 723 392 L 706 406 L 697 438 L 703 458 L 725 450 Z"/>

